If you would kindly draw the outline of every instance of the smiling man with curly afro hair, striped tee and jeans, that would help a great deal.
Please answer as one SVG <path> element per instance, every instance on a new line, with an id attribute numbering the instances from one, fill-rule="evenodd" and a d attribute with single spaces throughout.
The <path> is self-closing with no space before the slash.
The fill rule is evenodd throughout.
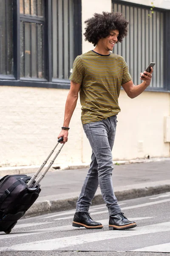
<path id="1" fill-rule="evenodd" d="M 116 133 L 118 98 L 121 86 L 130 98 L 141 94 L 149 85 L 150 73 L 141 73 L 142 83 L 134 85 L 127 64 L 122 56 L 112 53 L 113 47 L 127 36 L 128 22 L 118 12 L 95 13 L 85 21 L 85 41 L 94 49 L 77 56 L 70 76 L 71 87 L 65 104 L 62 131 L 58 138 L 68 140 L 71 116 L 77 105 L 78 93 L 82 105 L 82 125 L 92 148 L 91 165 L 79 195 L 73 226 L 87 229 L 102 228 L 88 210 L 98 186 L 108 207 L 109 230 L 125 230 L 136 227 L 129 221 L 117 202 L 113 191 L 112 148 Z"/>

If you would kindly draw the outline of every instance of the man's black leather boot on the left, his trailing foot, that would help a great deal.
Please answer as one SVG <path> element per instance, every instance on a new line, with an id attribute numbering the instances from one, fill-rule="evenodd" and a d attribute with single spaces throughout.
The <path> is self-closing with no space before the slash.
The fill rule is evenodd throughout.
<path id="1" fill-rule="evenodd" d="M 100 222 L 93 221 L 88 212 L 76 212 L 73 219 L 73 227 L 85 227 L 87 229 L 102 228 Z"/>

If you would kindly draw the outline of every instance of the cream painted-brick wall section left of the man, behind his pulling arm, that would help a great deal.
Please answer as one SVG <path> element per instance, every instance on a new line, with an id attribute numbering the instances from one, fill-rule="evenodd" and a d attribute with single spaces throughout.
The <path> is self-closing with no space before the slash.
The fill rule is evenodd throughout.
<path id="1" fill-rule="evenodd" d="M 57 143 L 68 90 L 0 86 L 0 166 L 40 165 Z M 82 161 L 80 104 L 55 163 Z"/>

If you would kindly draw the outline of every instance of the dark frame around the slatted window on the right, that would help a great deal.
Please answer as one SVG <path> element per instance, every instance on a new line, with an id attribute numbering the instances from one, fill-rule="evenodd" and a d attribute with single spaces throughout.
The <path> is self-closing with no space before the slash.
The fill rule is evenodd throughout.
<path id="1" fill-rule="evenodd" d="M 150 10 L 151 6 L 145 6 L 137 3 L 130 3 L 122 0 L 112 0 L 112 4 L 122 4 L 126 6 L 132 7 L 140 7 Z M 157 92 L 168 92 L 170 93 L 170 77 L 168 76 L 168 72 L 170 70 L 170 10 L 169 9 L 161 9 L 154 7 L 153 11 L 161 11 L 164 12 L 164 75 L 163 75 L 163 88 L 158 87 L 147 87 L 147 91 L 157 91 Z M 169 26 L 168 26 L 169 25 Z"/>

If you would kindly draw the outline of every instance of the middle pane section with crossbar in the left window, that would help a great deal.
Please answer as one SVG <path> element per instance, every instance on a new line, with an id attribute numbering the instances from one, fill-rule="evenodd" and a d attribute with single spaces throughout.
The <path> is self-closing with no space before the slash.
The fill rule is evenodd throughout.
<path id="1" fill-rule="evenodd" d="M 21 79 L 45 77 L 44 29 L 44 0 L 20 0 Z"/>

